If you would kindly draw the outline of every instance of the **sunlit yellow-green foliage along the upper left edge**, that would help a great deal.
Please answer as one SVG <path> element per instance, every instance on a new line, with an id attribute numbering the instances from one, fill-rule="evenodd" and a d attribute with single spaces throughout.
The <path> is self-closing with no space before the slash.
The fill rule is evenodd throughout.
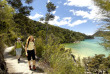
<path id="1" fill-rule="evenodd" d="M 7 5 L 6 0 L 0 1 L 0 34 L 6 32 L 13 22 L 14 9 Z"/>

